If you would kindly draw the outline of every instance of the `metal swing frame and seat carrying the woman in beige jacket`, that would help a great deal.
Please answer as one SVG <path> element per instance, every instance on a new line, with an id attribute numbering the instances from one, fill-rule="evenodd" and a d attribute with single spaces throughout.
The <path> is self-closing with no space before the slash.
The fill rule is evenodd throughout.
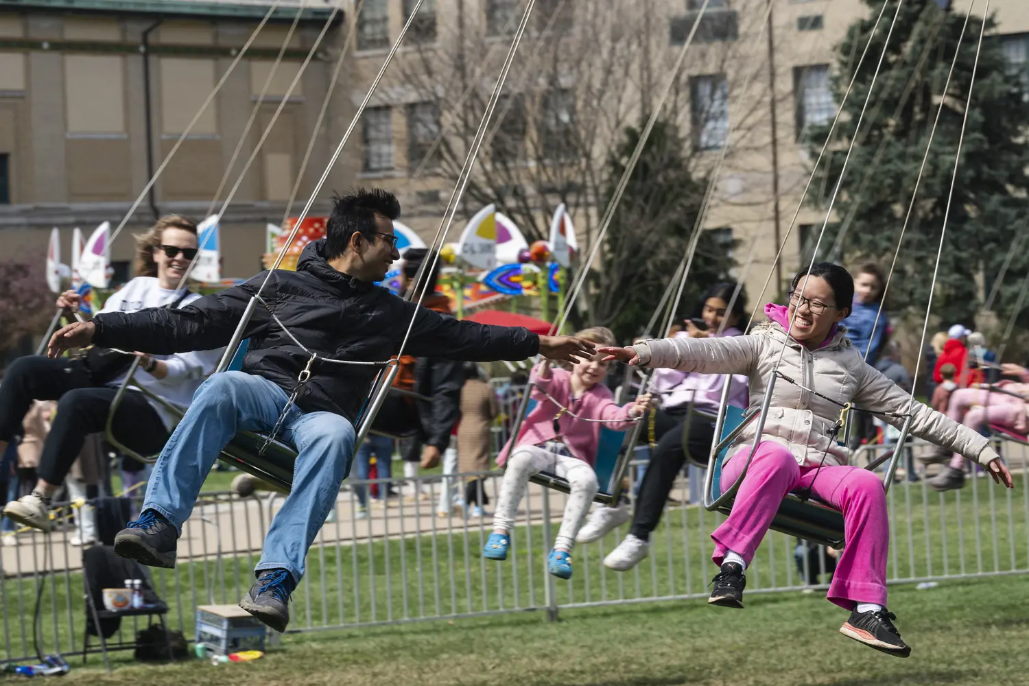
<path id="1" fill-rule="evenodd" d="M 739 491 L 740 484 L 743 483 L 743 479 L 750 468 L 750 463 L 757 452 L 757 446 L 761 442 L 765 421 L 768 418 L 769 408 L 772 406 L 772 394 L 775 391 L 777 375 L 777 373 L 773 373 L 769 378 L 768 389 L 765 392 L 765 398 L 760 406 L 748 410 L 743 416 L 740 424 L 730 430 L 724 436 L 722 436 L 722 432 L 725 429 L 725 412 L 729 406 L 729 390 L 732 376 L 729 376 L 726 383 L 722 386 L 721 402 L 718 406 L 718 417 L 715 423 L 715 439 L 711 447 L 711 455 L 708 458 L 708 471 L 704 481 L 704 509 L 709 512 L 717 511 L 725 515 L 732 512 L 736 493 Z M 720 482 L 716 481 L 715 478 L 719 480 L 721 478 L 721 466 L 725 460 L 728 448 L 735 443 L 744 429 L 754 420 L 757 421 L 757 427 L 743 470 L 740 472 L 740 476 L 736 479 L 736 482 L 729 489 L 725 489 L 724 492 L 721 492 Z M 884 492 L 889 492 L 890 484 L 893 482 L 893 475 L 896 472 L 902 447 L 908 440 L 908 434 L 911 430 L 911 422 L 912 414 L 906 414 L 896 445 L 886 450 L 865 467 L 865 469 L 873 471 L 888 461 L 886 474 L 883 476 Z M 734 457 L 739 459 L 738 454 Z M 843 513 L 816 499 L 803 499 L 794 493 L 787 494 L 783 499 L 770 528 L 788 536 L 796 536 L 831 548 L 842 548 L 844 545 Z"/>

